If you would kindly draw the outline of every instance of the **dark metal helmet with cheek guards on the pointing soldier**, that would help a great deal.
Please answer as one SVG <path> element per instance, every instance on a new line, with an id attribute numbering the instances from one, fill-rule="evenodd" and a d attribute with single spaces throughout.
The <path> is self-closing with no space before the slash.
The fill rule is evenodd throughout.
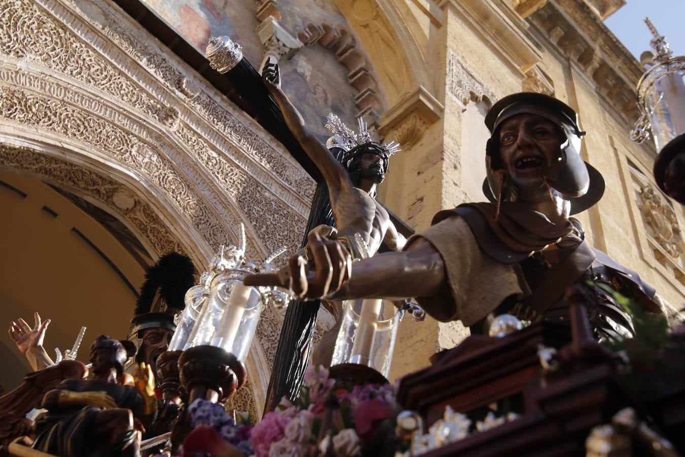
<path id="1" fill-rule="evenodd" d="M 560 127 L 566 141 L 559 148 L 557 160 L 553 160 L 545 171 L 545 182 L 571 202 L 571 214 L 582 212 L 593 206 L 604 193 L 604 179 L 593 166 L 580 157 L 580 145 L 585 132 L 578 127 L 578 116 L 566 103 L 536 92 L 519 92 L 499 100 L 485 116 L 485 125 L 490 130 L 486 146 L 486 173 L 483 193 L 490 201 L 503 199 L 516 192 L 511 184 L 501 189 L 501 176 L 506 173 L 499 154 L 499 127 L 516 114 L 536 114 Z"/>

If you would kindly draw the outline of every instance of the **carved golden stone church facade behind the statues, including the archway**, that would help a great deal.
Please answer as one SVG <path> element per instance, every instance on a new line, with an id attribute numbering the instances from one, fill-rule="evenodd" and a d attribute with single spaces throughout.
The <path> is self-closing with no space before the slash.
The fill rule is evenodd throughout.
<path id="1" fill-rule="evenodd" d="M 582 154 L 607 182 L 602 201 L 580 214 L 588 240 L 667 301 L 685 301 L 685 214 L 653 185 L 656 151 L 626 133 L 643 69 L 602 23 L 620 1 L 260 0 L 207 12 L 206 2 L 179 0 L 151 8 L 175 17 L 169 8 L 181 3 L 231 19 L 235 29 L 220 34 L 238 38 L 253 65 L 279 58 L 290 78 L 284 89 L 308 121 L 345 107 L 343 117 L 367 114 L 381 136 L 403 143 L 379 199 L 416 231 L 438 210 L 484 199 L 488 106 L 521 90 L 553 94 L 580 114 Z M 188 32 L 179 21 L 173 27 Z M 0 54 L 3 167 L 90 195 L 155 254 L 174 246 L 206 262 L 219 243 L 236 240 L 240 222 L 254 258 L 298 247 L 310 177 L 112 3 L 0 0 Z M 336 106 L 309 79 L 347 82 L 339 93 L 353 101 Z M 117 205 L 117 189 L 132 199 L 120 195 Z M 264 402 L 281 321 L 264 312 L 249 358 L 251 399 L 236 399 L 241 408 L 259 412 Z M 391 378 L 467 332 L 432 319 L 403 323 Z"/>

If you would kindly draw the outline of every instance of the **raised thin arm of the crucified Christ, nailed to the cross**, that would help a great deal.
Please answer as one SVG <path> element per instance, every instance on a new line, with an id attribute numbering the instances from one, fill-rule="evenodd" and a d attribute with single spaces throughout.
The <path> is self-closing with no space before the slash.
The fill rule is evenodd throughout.
<path id="1" fill-rule="evenodd" d="M 334 158 L 328 148 L 321 144 L 319 138 L 316 138 L 309 131 L 297 108 L 281 90 L 280 77 L 278 64 L 271 63 L 271 60 L 267 61 L 264 64 L 264 69 L 262 69 L 262 79 L 264 80 L 264 85 L 269 89 L 269 92 L 271 92 L 278 107 L 281 109 L 288 129 L 295 135 L 298 143 L 309 158 L 312 159 L 316 168 L 321 171 L 321 175 L 323 175 L 323 179 L 328 184 L 329 189 L 340 188 L 340 186 L 349 181 L 347 170 Z"/>

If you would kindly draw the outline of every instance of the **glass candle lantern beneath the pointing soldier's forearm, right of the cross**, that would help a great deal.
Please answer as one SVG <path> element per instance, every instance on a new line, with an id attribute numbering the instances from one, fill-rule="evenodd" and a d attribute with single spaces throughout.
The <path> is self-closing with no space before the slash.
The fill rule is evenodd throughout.
<path id="1" fill-rule="evenodd" d="M 343 301 L 331 365 L 357 363 L 388 377 L 400 314 L 390 300 Z"/>

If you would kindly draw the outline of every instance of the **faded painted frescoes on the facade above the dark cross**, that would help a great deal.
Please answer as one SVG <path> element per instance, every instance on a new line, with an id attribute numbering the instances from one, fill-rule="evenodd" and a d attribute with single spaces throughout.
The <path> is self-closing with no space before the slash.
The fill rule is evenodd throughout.
<path id="1" fill-rule="evenodd" d="M 188 42 L 204 52 L 212 36 L 227 35 L 239 42 L 243 54 L 257 67 L 262 62 L 264 46 L 256 28 L 256 2 L 250 0 L 145 0 Z M 309 24 L 343 25 L 345 18 L 331 0 L 290 0 L 278 3 L 282 14 L 279 24 L 297 36 Z M 280 62 L 282 88 L 301 112 L 309 129 L 322 141 L 329 134 L 325 117 L 335 112 L 356 125 L 356 90 L 347 82 L 347 70 L 330 49 L 314 44 L 304 46 L 290 60 Z"/>

